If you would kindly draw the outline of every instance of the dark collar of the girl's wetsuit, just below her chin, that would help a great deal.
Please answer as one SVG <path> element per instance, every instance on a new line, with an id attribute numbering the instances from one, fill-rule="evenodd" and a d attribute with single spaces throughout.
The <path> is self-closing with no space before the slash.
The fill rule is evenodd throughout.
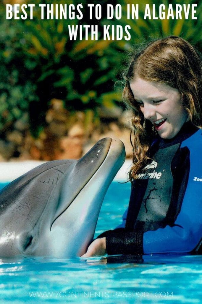
<path id="1" fill-rule="evenodd" d="M 188 121 L 187 123 L 184 123 L 180 131 L 177 133 L 176 136 L 174 136 L 171 139 L 163 139 L 159 135 L 157 136 L 158 138 L 158 143 L 159 143 L 159 148 L 165 148 L 172 146 L 176 143 L 180 143 L 193 135 L 195 132 L 197 132 L 199 129 L 191 123 L 191 121 Z"/>

